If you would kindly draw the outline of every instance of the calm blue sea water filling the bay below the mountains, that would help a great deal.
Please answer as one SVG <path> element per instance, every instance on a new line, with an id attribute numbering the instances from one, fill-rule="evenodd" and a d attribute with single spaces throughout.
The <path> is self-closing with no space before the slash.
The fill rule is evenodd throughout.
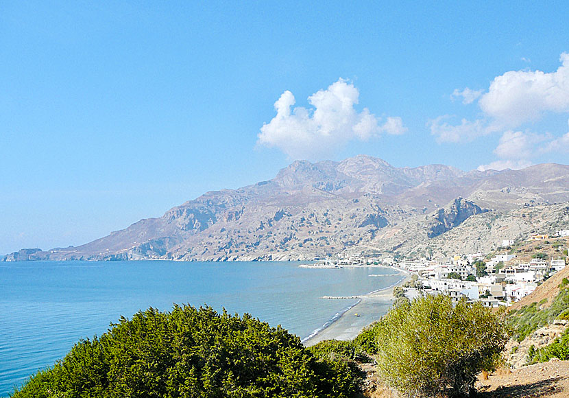
<path id="1" fill-rule="evenodd" d="M 355 302 L 320 296 L 365 294 L 400 280 L 368 277 L 381 273 L 393 270 L 306 269 L 277 261 L 0 263 L 0 397 L 62 358 L 80 338 L 104 333 L 121 315 L 206 303 L 248 312 L 304 338 Z"/>

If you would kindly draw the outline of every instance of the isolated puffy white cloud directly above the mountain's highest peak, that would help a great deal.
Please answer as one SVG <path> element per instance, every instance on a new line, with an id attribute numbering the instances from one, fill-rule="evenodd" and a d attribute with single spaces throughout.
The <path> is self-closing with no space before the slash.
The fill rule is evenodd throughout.
<path id="1" fill-rule="evenodd" d="M 400 117 L 381 120 L 370 110 L 358 112 L 359 91 L 347 80 L 339 79 L 308 97 L 312 109 L 293 107 L 295 97 L 284 91 L 275 102 L 276 116 L 263 124 L 258 145 L 279 148 L 291 159 L 322 159 L 352 139 L 367 140 L 382 132 L 402 134 L 407 130 Z"/>

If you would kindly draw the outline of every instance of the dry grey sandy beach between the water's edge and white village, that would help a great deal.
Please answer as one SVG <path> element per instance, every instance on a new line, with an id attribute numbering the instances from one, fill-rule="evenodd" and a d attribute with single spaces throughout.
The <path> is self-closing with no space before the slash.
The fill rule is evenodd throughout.
<path id="1" fill-rule="evenodd" d="M 310 347 L 323 340 L 352 340 L 355 338 L 364 327 L 387 313 L 394 299 L 394 288 L 411 279 L 409 272 L 402 271 L 401 276 L 401 281 L 390 288 L 359 296 L 361 299 L 359 303 L 343 313 L 332 325 L 304 341 L 304 345 Z"/>

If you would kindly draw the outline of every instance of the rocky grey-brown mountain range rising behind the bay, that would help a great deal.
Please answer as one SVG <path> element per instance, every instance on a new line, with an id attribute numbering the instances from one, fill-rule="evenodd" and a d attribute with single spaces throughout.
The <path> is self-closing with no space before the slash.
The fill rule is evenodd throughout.
<path id="1" fill-rule="evenodd" d="M 311 260 L 488 251 L 502 239 L 569 229 L 569 166 L 463 172 L 371 156 L 295 161 L 275 178 L 210 191 L 82 246 L 3 261 Z"/>

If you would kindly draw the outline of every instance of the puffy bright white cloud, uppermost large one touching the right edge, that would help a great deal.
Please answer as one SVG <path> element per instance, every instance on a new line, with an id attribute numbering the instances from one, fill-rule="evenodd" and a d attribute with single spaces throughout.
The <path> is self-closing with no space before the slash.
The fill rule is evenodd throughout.
<path id="1" fill-rule="evenodd" d="M 544 113 L 569 112 L 569 54 L 555 72 L 508 71 L 494 78 L 479 100 L 483 112 L 505 128 L 539 120 Z"/>

